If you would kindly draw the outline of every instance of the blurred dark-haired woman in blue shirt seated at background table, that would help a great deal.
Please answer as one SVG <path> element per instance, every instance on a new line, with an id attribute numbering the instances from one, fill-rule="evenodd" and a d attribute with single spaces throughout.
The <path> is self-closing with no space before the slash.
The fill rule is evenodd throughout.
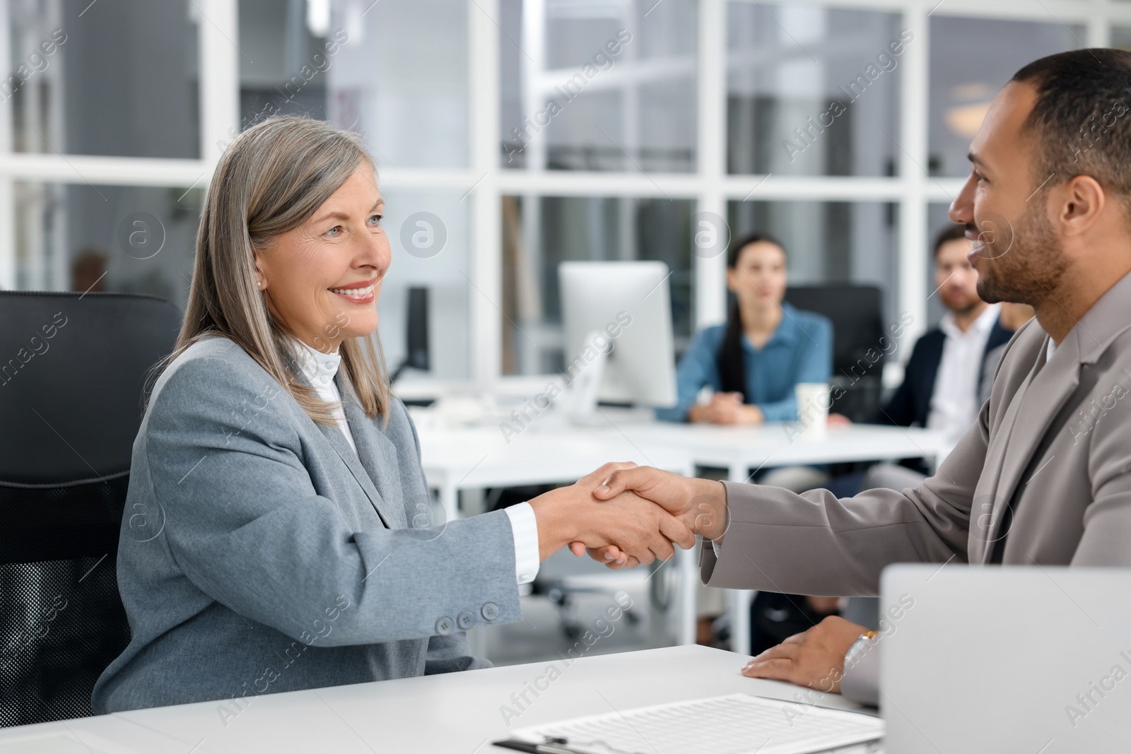
<path id="1" fill-rule="evenodd" d="M 726 324 L 706 328 L 691 341 L 676 371 L 679 402 L 657 409 L 657 418 L 796 422 L 794 387 L 828 382 L 832 373 L 832 323 L 783 301 L 785 249 L 768 235 L 748 235 L 731 245 L 726 287 L 735 295 Z M 705 385 L 715 393 L 697 404 Z"/>

